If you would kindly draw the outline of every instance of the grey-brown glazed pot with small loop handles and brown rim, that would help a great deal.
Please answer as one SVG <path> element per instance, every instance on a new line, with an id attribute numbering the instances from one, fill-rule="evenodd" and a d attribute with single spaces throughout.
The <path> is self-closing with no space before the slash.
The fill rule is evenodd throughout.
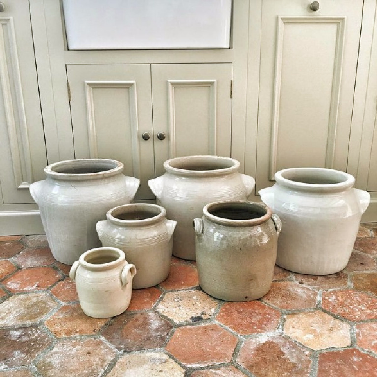
<path id="1" fill-rule="evenodd" d="M 199 284 L 226 301 L 250 301 L 271 287 L 281 229 L 262 203 L 209 203 L 194 219 Z"/>

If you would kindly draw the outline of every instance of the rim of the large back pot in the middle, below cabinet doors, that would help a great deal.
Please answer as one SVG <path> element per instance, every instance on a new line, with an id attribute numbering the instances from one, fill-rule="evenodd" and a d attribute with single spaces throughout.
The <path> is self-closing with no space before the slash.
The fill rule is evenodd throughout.
<path id="1" fill-rule="evenodd" d="M 208 170 L 191 170 L 191 169 L 184 169 L 175 167 L 172 164 L 179 164 L 180 162 L 186 163 L 198 163 L 198 162 L 214 162 L 214 163 L 227 163 L 224 168 L 219 169 L 208 169 Z M 180 176 L 187 176 L 187 177 L 208 177 L 208 176 L 218 176 L 218 175 L 226 175 L 237 172 L 240 167 L 239 161 L 235 160 L 231 157 L 221 157 L 221 156 L 212 156 L 212 155 L 195 155 L 195 156 L 186 156 L 186 157 L 175 157 L 164 162 L 164 169 L 166 172 L 180 175 Z"/>

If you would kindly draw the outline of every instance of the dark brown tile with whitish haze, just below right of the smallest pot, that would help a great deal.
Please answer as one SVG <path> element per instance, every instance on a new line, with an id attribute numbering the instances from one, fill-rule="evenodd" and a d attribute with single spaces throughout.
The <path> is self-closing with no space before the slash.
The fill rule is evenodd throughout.
<path id="1" fill-rule="evenodd" d="M 163 347 L 172 325 L 156 313 L 123 313 L 103 331 L 103 337 L 120 351 Z"/>

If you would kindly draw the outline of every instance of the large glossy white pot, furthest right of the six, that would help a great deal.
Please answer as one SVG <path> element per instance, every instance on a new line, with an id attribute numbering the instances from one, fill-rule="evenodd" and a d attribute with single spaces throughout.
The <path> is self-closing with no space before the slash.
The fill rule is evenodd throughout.
<path id="1" fill-rule="evenodd" d="M 327 275 L 346 267 L 369 193 L 352 175 L 322 168 L 290 168 L 259 191 L 282 220 L 276 263 L 290 271 Z"/>

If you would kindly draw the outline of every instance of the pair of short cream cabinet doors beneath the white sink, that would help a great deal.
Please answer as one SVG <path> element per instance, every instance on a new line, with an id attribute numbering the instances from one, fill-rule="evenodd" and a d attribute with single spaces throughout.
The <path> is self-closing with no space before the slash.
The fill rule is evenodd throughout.
<path id="1" fill-rule="evenodd" d="M 114 158 L 147 181 L 175 156 L 231 153 L 232 64 L 69 64 L 76 158 Z"/>

